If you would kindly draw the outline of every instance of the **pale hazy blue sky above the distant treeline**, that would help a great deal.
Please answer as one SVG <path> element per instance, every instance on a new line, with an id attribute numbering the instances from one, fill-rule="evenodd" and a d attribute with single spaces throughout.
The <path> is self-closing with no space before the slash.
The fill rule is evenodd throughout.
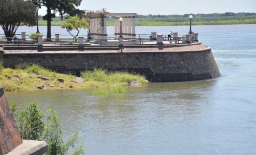
<path id="1" fill-rule="evenodd" d="M 82 10 L 106 8 L 111 13 L 171 15 L 225 12 L 256 12 L 256 0 L 82 0 Z M 39 10 L 45 15 L 46 8 Z M 57 14 L 58 15 L 58 14 Z"/>

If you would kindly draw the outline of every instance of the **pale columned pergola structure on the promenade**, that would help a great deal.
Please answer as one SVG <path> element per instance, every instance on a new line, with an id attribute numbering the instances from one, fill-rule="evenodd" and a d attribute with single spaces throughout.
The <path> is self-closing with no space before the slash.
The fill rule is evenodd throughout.
<path id="1" fill-rule="evenodd" d="M 122 34 L 125 40 L 136 40 L 135 34 L 135 15 L 137 13 L 105 13 L 103 19 L 103 27 L 101 26 L 100 18 L 97 14 L 90 16 L 90 34 L 92 39 L 107 40 L 107 19 L 109 15 L 115 17 L 115 34 L 114 39 L 118 39 L 120 35 L 120 21 L 119 18 L 123 18 L 122 22 Z"/>

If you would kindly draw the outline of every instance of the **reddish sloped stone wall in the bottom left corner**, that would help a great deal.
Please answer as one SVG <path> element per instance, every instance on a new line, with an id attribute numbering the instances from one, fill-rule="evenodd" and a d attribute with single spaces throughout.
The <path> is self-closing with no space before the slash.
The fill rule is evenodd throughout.
<path id="1" fill-rule="evenodd" d="M 22 143 L 13 114 L 0 86 L 0 154 L 9 153 Z"/>

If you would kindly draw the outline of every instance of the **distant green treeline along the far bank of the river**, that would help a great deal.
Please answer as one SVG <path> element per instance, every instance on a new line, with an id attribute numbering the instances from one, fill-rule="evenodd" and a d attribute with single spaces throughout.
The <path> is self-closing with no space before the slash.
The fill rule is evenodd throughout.
<path id="1" fill-rule="evenodd" d="M 189 25 L 189 15 L 193 15 L 193 25 L 233 25 L 233 24 L 256 24 L 256 13 L 213 13 L 213 14 L 185 14 L 185 15 L 137 15 L 137 26 L 173 26 Z M 42 19 L 42 18 L 41 18 Z M 53 18 L 52 25 L 61 25 L 65 22 L 60 17 Z M 46 21 L 40 20 L 39 25 L 47 25 Z M 114 26 L 114 17 L 107 18 L 107 26 Z"/>

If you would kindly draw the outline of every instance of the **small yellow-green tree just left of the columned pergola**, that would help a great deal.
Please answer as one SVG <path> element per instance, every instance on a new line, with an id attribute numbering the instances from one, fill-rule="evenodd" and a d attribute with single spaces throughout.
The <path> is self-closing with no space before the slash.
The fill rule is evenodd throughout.
<path id="1" fill-rule="evenodd" d="M 73 16 L 73 17 L 68 17 L 67 22 L 62 24 L 61 28 L 66 28 L 67 32 L 69 32 L 69 34 L 72 35 L 75 38 L 75 40 L 77 40 L 77 36 L 80 32 L 79 29 L 89 28 L 89 23 L 84 18 Z M 71 33 L 72 30 L 77 30 L 77 34 L 73 35 Z"/>

